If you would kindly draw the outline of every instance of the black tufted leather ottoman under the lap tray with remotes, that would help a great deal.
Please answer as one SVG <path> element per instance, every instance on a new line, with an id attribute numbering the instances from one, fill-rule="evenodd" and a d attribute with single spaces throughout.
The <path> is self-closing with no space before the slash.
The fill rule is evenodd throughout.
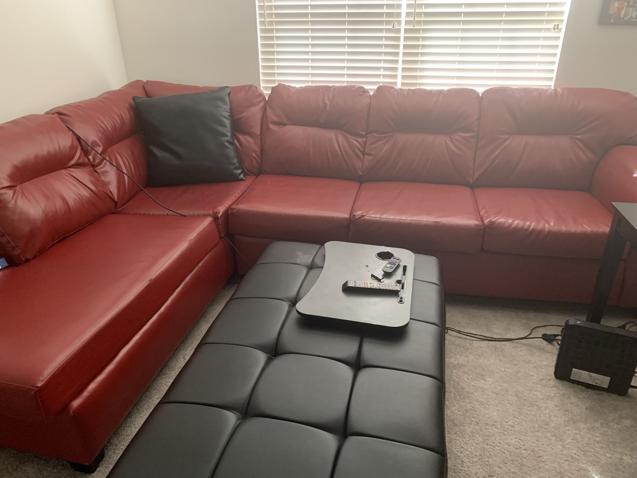
<path id="1" fill-rule="evenodd" d="M 110 478 L 437 478 L 447 472 L 440 264 L 400 329 L 301 317 L 322 247 L 247 273 Z"/>

